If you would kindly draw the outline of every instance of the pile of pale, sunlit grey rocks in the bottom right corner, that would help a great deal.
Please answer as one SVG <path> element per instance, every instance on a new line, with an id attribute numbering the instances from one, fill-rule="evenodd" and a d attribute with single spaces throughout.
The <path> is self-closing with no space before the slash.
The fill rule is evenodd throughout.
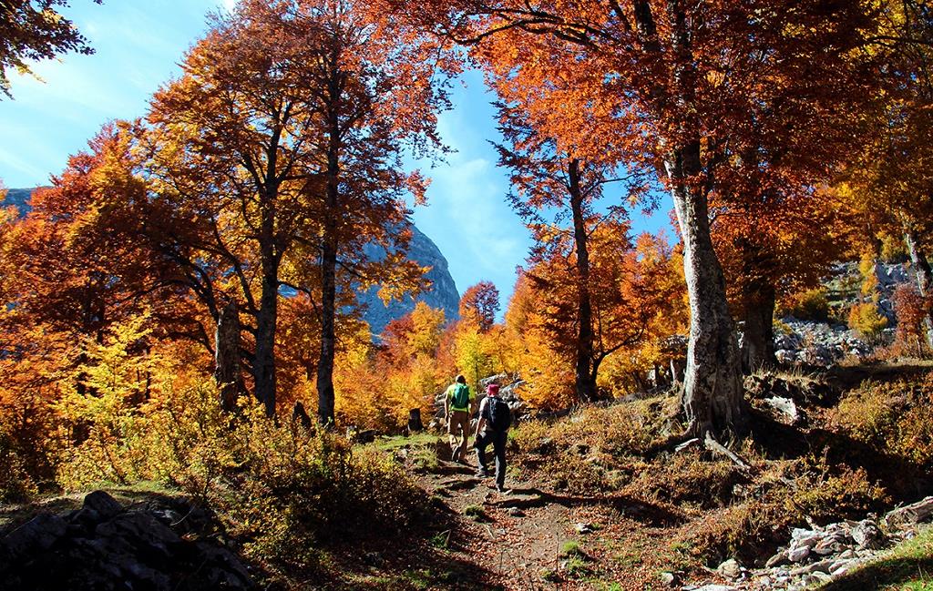
<path id="1" fill-rule="evenodd" d="M 901 507 L 883 519 L 842 521 L 813 529 L 794 529 L 790 543 L 765 568 L 748 570 L 727 560 L 717 573 L 731 585 L 688 585 L 682 591 L 801 591 L 808 585 L 842 576 L 895 543 L 916 535 L 918 524 L 933 516 L 933 497 Z"/>

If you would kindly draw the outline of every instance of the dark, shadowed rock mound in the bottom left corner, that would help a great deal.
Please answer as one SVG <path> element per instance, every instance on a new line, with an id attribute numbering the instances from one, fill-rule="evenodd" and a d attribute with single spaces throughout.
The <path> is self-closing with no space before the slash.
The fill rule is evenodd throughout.
<path id="1" fill-rule="evenodd" d="M 7 533 L 0 581 L 7 591 L 256 588 L 235 554 L 199 535 L 210 524 L 185 502 L 131 510 L 98 490 L 80 509 L 39 514 Z"/>

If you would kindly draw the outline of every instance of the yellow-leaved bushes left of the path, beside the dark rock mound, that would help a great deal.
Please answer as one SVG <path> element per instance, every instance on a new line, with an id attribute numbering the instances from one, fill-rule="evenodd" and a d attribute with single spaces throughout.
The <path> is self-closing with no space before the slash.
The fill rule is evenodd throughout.
<path id="1" fill-rule="evenodd" d="M 391 456 L 344 437 L 220 411 L 213 384 L 167 390 L 122 417 L 121 438 L 69 449 L 67 489 L 155 480 L 212 508 L 246 556 L 285 577 L 313 572 L 329 543 L 398 536 L 431 506 Z M 323 565 L 326 566 L 326 565 Z"/>

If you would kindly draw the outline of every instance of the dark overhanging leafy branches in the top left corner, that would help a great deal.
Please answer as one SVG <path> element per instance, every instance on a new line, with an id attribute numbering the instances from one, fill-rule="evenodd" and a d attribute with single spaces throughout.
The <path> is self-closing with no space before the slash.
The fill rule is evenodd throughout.
<path id="1" fill-rule="evenodd" d="M 94 0 L 101 4 L 102 0 Z M 21 74 L 32 72 L 29 62 L 50 60 L 60 53 L 93 53 L 75 23 L 65 19 L 58 7 L 67 0 L 11 0 L 0 4 L 0 90 L 7 97 L 12 68 Z"/>

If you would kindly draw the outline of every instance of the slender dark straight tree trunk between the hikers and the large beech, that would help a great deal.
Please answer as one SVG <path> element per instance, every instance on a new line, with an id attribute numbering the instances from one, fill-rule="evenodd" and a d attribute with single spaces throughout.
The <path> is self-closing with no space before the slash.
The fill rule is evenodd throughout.
<path id="1" fill-rule="evenodd" d="M 590 298 L 590 248 L 583 219 L 583 192 L 580 187 L 579 160 L 569 167 L 570 210 L 574 217 L 574 244 L 577 249 L 577 362 L 574 384 L 578 400 L 596 400 L 595 371 L 592 371 L 592 300 Z M 594 368 L 593 368 L 594 369 Z"/>

